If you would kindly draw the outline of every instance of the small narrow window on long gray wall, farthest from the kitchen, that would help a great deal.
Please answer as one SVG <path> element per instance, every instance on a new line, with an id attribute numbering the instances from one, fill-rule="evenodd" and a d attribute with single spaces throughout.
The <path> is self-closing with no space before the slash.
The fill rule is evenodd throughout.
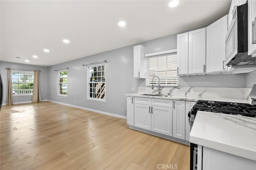
<path id="1" fill-rule="evenodd" d="M 68 70 L 58 71 L 58 95 L 68 95 Z"/>

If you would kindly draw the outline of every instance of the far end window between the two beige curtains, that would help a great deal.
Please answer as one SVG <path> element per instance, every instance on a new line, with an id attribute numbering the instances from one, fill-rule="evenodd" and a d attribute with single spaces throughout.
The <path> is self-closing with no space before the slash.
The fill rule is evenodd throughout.
<path id="1" fill-rule="evenodd" d="M 34 71 L 12 70 L 12 94 L 32 95 Z"/>

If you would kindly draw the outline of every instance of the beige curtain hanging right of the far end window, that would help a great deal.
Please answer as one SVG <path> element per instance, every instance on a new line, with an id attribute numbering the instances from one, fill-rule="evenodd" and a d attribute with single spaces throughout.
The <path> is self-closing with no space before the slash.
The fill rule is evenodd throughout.
<path id="1" fill-rule="evenodd" d="M 41 92 L 40 92 L 40 82 L 39 82 L 39 72 L 34 70 L 34 88 L 32 102 L 42 102 Z"/>

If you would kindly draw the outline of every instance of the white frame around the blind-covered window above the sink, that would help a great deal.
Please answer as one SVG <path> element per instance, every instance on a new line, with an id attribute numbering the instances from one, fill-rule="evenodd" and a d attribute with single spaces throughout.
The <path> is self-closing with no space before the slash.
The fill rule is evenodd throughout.
<path id="1" fill-rule="evenodd" d="M 166 53 L 165 53 L 166 52 Z M 154 55 L 153 55 L 154 54 Z M 171 52 L 170 51 L 163 51 L 163 52 L 160 52 L 159 54 L 156 54 L 156 53 L 152 53 L 152 55 L 150 55 L 150 54 L 148 54 L 147 55 L 147 57 L 146 58 L 150 58 L 150 57 L 160 57 L 160 56 L 168 56 L 168 55 L 176 55 L 177 56 L 177 50 L 176 49 L 174 49 L 174 50 L 171 50 Z M 147 60 L 147 59 L 146 59 Z M 146 63 L 145 64 L 147 64 L 147 61 L 146 61 Z M 178 56 L 177 56 L 177 67 L 178 67 Z M 148 68 L 146 67 L 146 74 L 147 74 L 147 72 L 148 72 L 148 70 L 147 70 Z M 176 68 L 176 71 L 177 71 L 177 68 Z M 177 84 L 160 84 L 160 86 L 162 86 L 162 87 L 178 87 L 179 85 L 180 85 L 180 76 L 177 74 Z M 146 75 L 146 78 L 145 78 L 146 80 L 146 86 L 152 86 L 152 84 L 148 84 L 147 83 L 147 79 L 148 79 L 148 77 L 147 77 L 147 75 Z M 158 82 L 158 79 L 157 78 L 155 78 L 154 80 L 157 80 L 157 82 Z M 149 80 L 150 81 L 150 80 Z M 151 81 L 152 81 L 152 79 L 151 79 Z M 158 84 L 153 84 L 154 86 L 158 86 Z"/>

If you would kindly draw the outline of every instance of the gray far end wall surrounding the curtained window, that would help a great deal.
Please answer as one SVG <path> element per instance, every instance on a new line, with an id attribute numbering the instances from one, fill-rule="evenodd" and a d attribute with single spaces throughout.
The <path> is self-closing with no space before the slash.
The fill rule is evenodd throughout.
<path id="1" fill-rule="evenodd" d="M 47 78 L 47 72 L 48 69 L 45 66 L 34 66 L 29 64 L 18 64 L 18 63 L 8 63 L 1 61 L 1 76 L 4 86 L 4 98 L 3 103 L 7 103 L 7 82 L 8 82 L 8 74 L 6 68 L 17 68 L 17 69 L 26 69 L 26 70 L 40 70 L 40 88 L 41 88 L 41 94 L 42 94 L 42 100 L 47 99 L 47 84 L 48 84 L 48 78 Z M 32 101 L 32 96 L 13 96 L 13 102 L 30 102 Z"/>

